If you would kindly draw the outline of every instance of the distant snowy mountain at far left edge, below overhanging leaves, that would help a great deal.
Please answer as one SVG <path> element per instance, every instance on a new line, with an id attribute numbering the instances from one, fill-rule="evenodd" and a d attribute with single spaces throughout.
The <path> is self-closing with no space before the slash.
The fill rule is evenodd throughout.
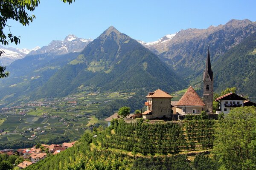
<path id="1" fill-rule="evenodd" d="M 9 65 L 16 59 L 22 59 L 27 54 L 29 54 L 30 51 L 35 51 L 40 49 L 40 47 L 35 47 L 33 49 L 27 49 L 27 48 L 14 48 L 9 47 L 5 48 L 0 45 L 0 51 L 3 51 L 4 53 L 0 56 L 0 65 Z"/>

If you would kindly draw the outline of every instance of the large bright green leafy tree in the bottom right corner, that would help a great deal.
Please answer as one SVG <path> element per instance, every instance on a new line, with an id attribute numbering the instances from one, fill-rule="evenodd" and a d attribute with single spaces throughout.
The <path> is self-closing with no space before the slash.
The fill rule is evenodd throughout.
<path id="1" fill-rule="evenodd" d="M 221 169 L 256 169 L 256 108 L 230 111 L 215 127 L 214 152 Z"/>

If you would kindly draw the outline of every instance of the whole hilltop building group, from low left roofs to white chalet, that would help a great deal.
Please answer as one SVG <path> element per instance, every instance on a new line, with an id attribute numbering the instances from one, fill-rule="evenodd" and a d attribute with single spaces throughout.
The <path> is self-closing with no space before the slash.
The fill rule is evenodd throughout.
<path id="1" fill-rule="evenodd" d="M 209 116 L 217 117 L 218 114 L 227 114 L 230 110 L 236 107 L 256 106 L 256 103 L 250 102 L 242 96 L 229 93 L 215 99 L 215 101 L 218 102 L 218 109 L 216 113 L 213 113 L 213 72 L 211 68 L 209 49 L 206 67 L 203 74 L 203 100 L 198 96 L 192 86 L 187 89 L 186 93 L 179 101 L 172 101 L 173 97 L 161 89 L 149 92 L 146 98 L 147 102 L 145 102 L 145 106 L 147 107 L 147 111 L 126 116 L 127 122 L 132 122 L 128 119 L 133 118 L 177 120 L 180 118 L 182 119 L 186 115 L 201 114 L 202 111 L 205 111 Z M 105 121 L 108 122 L 109 126 L 111 120 L 116 118 L 119 118 L 117 113 L 108 117 Z"/>

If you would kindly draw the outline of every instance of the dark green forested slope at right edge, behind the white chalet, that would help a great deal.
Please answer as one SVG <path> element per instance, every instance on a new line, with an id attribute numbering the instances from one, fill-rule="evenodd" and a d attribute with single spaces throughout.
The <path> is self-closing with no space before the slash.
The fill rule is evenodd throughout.
<path id="1" fill-rule="evenodd" d="M 237 87 L 256 100 L 256 32 L 214 62 L 215 91 Z"/>

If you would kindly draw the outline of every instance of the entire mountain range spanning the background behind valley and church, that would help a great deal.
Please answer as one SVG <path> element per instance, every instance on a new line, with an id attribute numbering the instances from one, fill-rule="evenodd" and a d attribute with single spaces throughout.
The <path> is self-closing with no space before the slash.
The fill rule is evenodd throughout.
<path id="1" fill-rule="evenodd" d="M 236 86 L 240 93 L 256 96 L 255 32 L 256 22 L 230 20 L 207 29 L 181 30 L 154 42 L 134 40 L 113 26 L 95 40 L 70 34 L 12 62 L 10 77 L 0 82 L 0 103 L 66 96 L 88 85 L 97 91 L 201 87 L 208 46 L 215 91 Z"/>

